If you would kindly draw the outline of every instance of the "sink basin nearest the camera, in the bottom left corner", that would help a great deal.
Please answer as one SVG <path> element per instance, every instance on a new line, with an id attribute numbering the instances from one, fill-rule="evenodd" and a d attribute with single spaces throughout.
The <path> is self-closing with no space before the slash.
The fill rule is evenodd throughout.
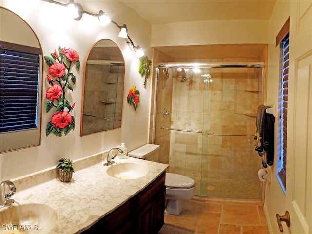
<path id="1" fill-rule="evenodd" d="M 1 209 L 1 234 L 47 234 L 55 226 L 57 213 L 51 207 L 40 203 L 16 204 Z"/>

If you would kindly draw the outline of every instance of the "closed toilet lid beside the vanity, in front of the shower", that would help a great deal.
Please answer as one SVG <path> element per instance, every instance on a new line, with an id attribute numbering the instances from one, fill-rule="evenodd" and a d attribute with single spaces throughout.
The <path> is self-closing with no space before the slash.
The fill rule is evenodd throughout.
<path id="1" fill-rule="evenodd" d="M 166 173 L 166 187 L 189 189 L 194 187 L 195 181 L 190 177 L 183 176 L 176 173 Z"/>

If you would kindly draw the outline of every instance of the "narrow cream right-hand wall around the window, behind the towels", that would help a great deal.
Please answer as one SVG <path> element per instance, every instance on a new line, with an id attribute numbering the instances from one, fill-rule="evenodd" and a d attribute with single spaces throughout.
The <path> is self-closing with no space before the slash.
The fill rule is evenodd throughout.
<path id="1" fill-rule="evenodd" d="M 290 1 L 276 1 L 270 22 L 269 22 L 269 42 L 268 42 L 268 87 L 267 104 L 269 106 L 278 104 L 279 90 L 279 46 L 275 47 L 276 36 L 281 30 L 290 15 Z M 278 120 L 275 122 L 275 155 L 274 165 L 270 167 L 272 171 L 271 183 L 266 184 L 266 195 L 264 209 L 268 221 L 270 233 L 280 233 L 276 223 L 276 213 L 285 213 L 285 194 L 275 176 L 277 173 L 277 150 L 278 150 Z"/>

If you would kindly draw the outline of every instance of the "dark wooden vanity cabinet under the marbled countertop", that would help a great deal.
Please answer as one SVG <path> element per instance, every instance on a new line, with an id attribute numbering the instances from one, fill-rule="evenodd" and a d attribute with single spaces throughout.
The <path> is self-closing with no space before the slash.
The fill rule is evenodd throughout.
<path id="1" fill-rule="evenodd" d="M 140 193 L 80 233 L 157 234 L 164 224 L 165 176 L 163 172 Z"/>

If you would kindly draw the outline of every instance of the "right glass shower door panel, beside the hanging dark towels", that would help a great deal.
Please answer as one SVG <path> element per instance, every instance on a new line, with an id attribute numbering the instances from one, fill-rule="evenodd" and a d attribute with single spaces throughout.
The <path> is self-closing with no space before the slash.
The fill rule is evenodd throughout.
<path id="1" fill-rule="evenodd" d="M 254 150 L 262 68 L 211 68 L 204 98 L 201 195 L 259 199 L 261 157 Z"/>

